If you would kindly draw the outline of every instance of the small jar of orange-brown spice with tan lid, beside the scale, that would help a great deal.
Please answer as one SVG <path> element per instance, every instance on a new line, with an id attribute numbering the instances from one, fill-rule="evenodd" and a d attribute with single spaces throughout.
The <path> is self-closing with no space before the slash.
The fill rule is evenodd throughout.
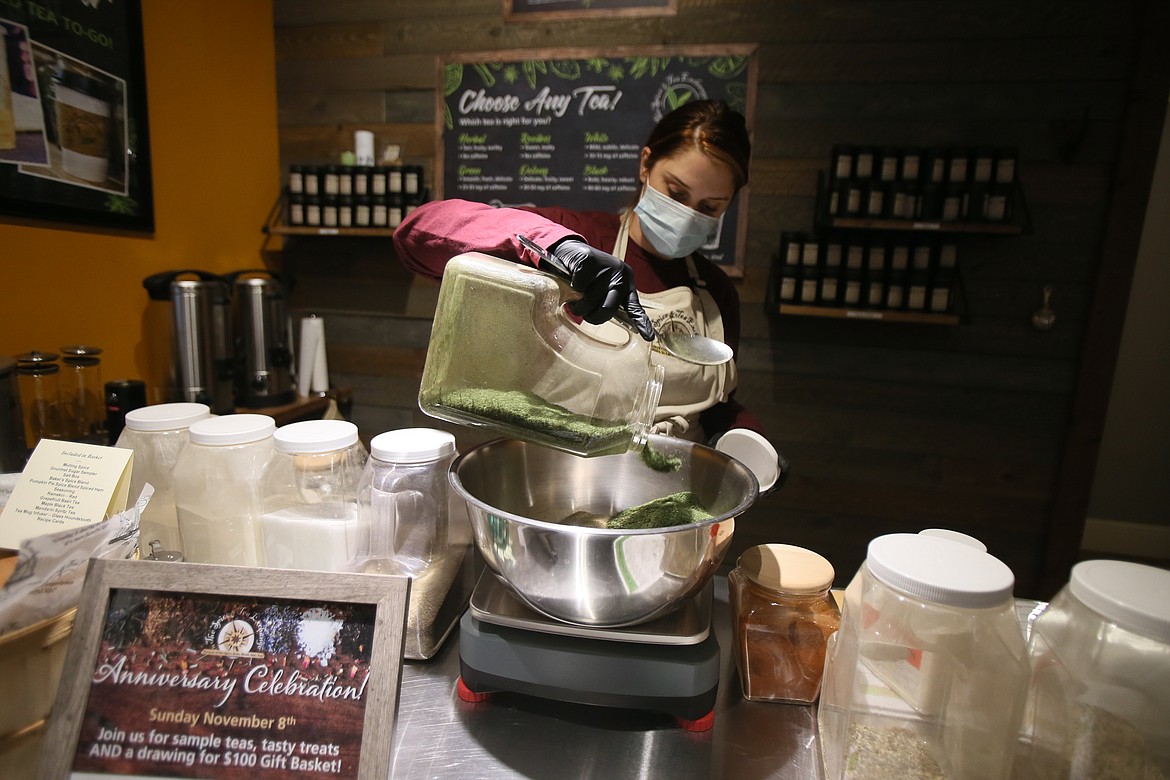
<path id="1" fill-rule="evenodd" d="M 768 544 L 739 557 L 728 594 L 744 698 L 817 700 L 825 644 L 841 616 L 832 585 L 833 565 L 811 550 Z"/>

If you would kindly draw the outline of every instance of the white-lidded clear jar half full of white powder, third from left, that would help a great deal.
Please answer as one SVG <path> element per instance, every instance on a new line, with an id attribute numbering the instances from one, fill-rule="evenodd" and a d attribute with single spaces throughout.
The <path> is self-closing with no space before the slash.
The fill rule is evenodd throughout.
<path id="1" fill-rule="evenodd" d="M 267 566 L 346 571 L 357 553 L 365 461 L 352 422 L 307 420 L 276 429 L 260 482 Z"/>

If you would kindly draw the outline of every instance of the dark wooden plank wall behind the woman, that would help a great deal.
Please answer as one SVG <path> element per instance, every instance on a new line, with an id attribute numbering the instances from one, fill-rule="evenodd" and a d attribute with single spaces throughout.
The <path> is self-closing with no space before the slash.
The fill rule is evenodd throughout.
<path id="1" fill-rule="evenodd" d="M 503 0 L 274 7 L 285 166 L 333 160 L 367 129 L 429 175 L 443 53 L 757 43 L 739 398 L 792 472 L 741 520 L 732 559 L 798 544 L 846 582 L 874 536 L 944 526 L 984 539 L 1019 595 L 1046 595 L 1142 0 L 679 0 L 673 18 L 558 23 L 507 23 Z M 959 239 L 968 322 L 765 312 L 780 233 L 812 228 L 838 143 L 1019 149 L 1033 230 Z M 290 240 L 274 262 L 297 281 L 295 308 L 328 317 L 333 377 L 353 387 L 363 432 L 429 423 L 415 393 L 434 285 L 406 275 L 388 240 Z M 1040 332 L 1045 284 L 1057 325 Z"/>

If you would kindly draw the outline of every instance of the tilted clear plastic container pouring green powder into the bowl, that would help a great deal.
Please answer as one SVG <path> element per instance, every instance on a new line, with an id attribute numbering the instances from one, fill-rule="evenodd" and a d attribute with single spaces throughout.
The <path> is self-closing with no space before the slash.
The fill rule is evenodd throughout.
<path id="1" fill-rule="evenodd" d="M 472 253 L 443 271 L 419 406 L 431 416 L 592 456 L 639 450 L 662 389 L 645 339 L 578 324 L 564 282 Z"/>

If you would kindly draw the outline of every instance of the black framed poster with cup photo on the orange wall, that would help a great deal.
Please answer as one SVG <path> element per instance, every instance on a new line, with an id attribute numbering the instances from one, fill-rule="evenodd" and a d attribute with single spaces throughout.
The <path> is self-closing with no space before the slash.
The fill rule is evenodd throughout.
<path id="1" fill-rule="evenodd" d="M 0 215 L 154 229 L 140 0 L 0 2 Z"/>

